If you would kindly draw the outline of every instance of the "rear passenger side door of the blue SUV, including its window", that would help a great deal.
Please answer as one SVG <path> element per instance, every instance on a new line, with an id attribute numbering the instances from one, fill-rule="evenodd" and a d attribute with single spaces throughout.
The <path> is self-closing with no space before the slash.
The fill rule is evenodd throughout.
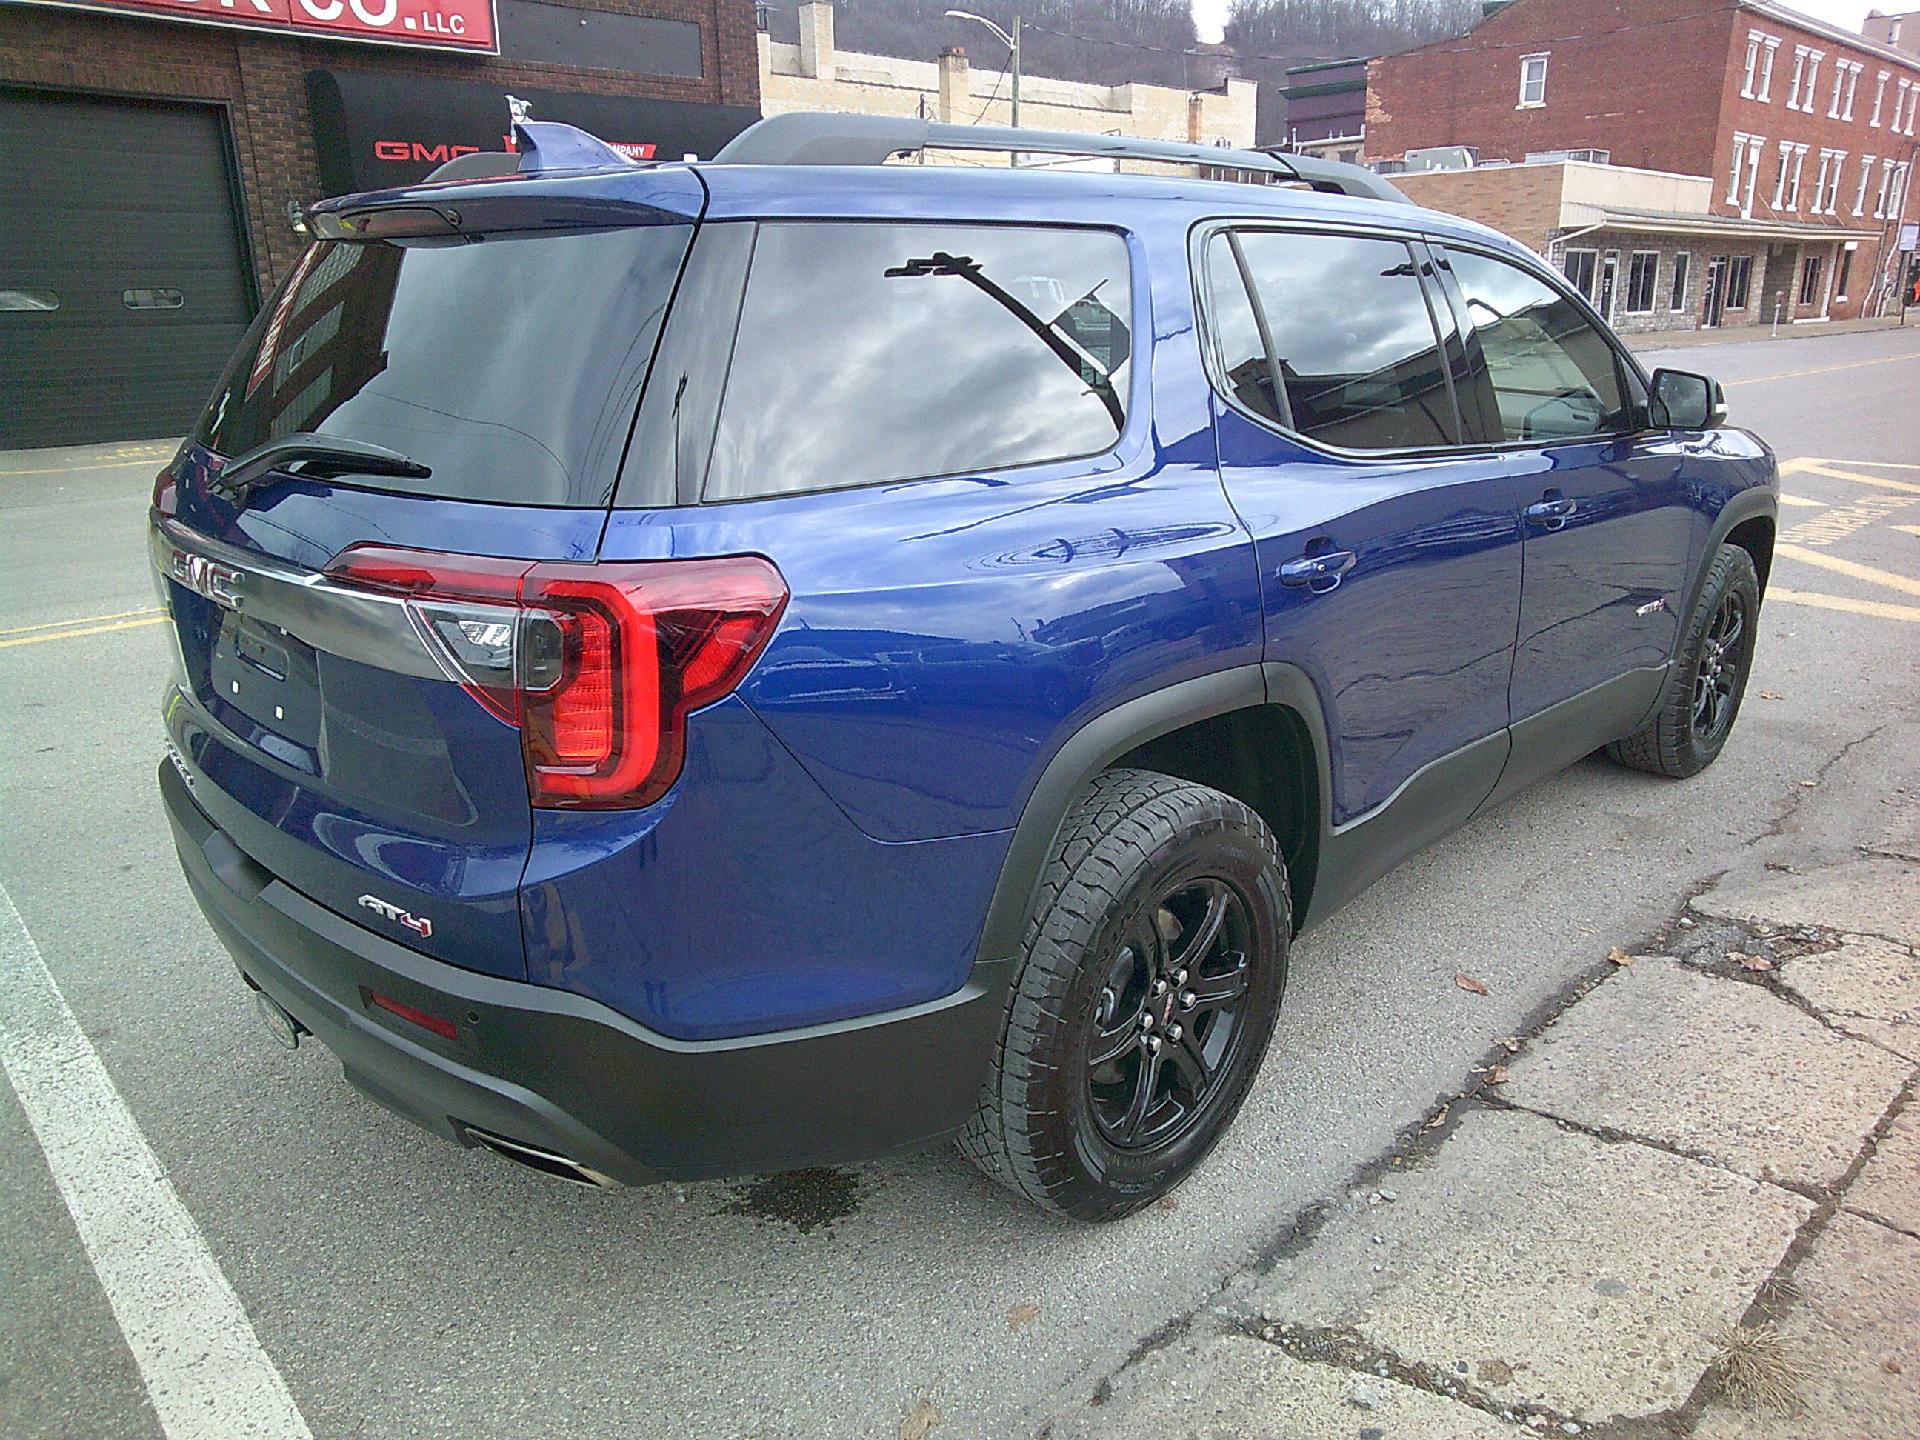
<path id="1" fill-rule="evenodd" d="M 1457 336 L 1423 246 L 1246 228 L 1210 236 L 1202 263 L 1221 478 L 1254 532 L 1267 660 L 1319 695 L 1334 826 L 1442 778 L 1404 852 L 1469 814 L 1505 760 L 1513 478 L 1461 449 Z"/>

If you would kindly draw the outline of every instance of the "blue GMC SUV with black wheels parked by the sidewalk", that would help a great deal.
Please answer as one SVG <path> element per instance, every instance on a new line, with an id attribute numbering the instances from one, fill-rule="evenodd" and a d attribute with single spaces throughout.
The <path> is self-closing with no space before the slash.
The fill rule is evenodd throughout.
<path id="1" fill-rule="evenodd" d="M 885 165 L 1094 154 L 1269 180 Z M 845 115 L 324 202 L 161 472 L 180 864 L 282 1041 L 576 1181 L 954 1137 L 1123 1215 L 1288 943 L 1740 710 L 1770 451 L 1354 167 Z"/>

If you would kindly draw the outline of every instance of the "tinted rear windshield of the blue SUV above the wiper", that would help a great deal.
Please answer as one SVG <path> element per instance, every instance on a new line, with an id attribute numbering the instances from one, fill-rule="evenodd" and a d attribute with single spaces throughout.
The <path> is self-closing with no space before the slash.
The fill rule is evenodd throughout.
<path id="1" fill-rule="evenodd" d="M 424 480 L 338 484 L 605 505 L 689 225 L 323 242 L 261 313 L 202 420 L 234 457 L 371 440 Z"/>

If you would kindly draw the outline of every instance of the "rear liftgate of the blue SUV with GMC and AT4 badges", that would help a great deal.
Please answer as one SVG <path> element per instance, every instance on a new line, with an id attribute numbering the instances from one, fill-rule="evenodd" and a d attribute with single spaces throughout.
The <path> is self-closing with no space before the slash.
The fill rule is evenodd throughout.
<path id="1" fill-rule="evenodd" d="M 520 591 L 595 557 L 703 200 L 660 167 L 328 202 L 321 234 L 351 238 L 301 257 L 156 490 L 196 801 L 451 964 L 526 975 Z M 376 459 L 330 453 L 355 445 Z M 547 708 L 559 772 L 593 718 Z"/>

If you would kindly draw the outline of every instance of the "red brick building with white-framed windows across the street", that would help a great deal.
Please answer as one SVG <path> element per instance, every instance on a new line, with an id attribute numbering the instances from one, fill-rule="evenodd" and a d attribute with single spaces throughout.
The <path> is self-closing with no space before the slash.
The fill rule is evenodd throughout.
<path id="1" fill-rule="evenodd" d="M 1513 0 L 1369 63 L 1367 157 L 1471 146 L 1482 167 L 1561 167 L 1405 179 L 1425 204 L 1538 227 L 1622 328 L 1849 319 L 1910 294 L 1916 111 L 1920 56 L 1770 0 Z"/>

